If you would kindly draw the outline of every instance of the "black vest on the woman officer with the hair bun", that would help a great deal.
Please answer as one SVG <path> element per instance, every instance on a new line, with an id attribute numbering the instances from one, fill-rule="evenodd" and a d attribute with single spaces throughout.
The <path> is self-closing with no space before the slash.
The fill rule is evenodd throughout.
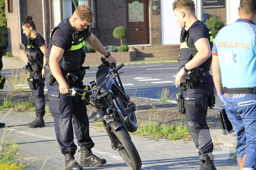
<path id="1" fill-rule="evenodd" d="M 42 37 L 39 33 L 36 33 L 33 37 L 27 37 L 25 41 L 25 51 L 27 53 L 27 59 L 30 63 L 39 62 L 41 65 L 44 62 L 44 53 L 39 47 L 34 47 L 37 37 Z"/>

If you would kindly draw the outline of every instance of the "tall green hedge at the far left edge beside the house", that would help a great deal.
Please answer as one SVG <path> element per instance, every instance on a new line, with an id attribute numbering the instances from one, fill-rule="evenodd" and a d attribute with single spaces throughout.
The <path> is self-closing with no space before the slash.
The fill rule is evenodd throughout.
<path id="1" fill-rule="evenodd" d="M 8 44 L 7 19 L 5 17 L 5 0 L 0 0 L 0 46 L 3 50 Z"/>

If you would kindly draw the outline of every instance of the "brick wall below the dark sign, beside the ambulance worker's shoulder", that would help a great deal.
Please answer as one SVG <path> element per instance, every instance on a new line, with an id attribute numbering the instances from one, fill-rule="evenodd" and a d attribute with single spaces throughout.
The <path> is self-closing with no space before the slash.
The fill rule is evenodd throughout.
<path id="1" fill-rule="evenodd" d="M 224 24 L 227 23 L 227 0 L 225 0 L 224 8 L 212 8 L 212 9 L 203 9 L 204 13 L 208 13 L 208 18 L 212 16 L 216 16 L 220 19 Z"/>

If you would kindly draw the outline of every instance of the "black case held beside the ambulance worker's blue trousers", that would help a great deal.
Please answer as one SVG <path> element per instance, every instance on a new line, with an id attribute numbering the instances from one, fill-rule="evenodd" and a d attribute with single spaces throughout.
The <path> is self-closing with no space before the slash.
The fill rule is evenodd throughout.
<path id="1" fill-rule="evenodd" d="M 219 111 L 218 117 L 221 122 L 221 130 L 223 135 L 227 135 L 234 132 L 232 124 L 227 118 L 227 114 L 224 108 Z"/>

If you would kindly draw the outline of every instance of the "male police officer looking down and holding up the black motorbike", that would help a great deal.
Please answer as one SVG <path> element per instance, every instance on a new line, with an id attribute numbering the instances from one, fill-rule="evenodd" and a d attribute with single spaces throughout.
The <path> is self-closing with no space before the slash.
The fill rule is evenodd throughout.
<path id="1" fill-rule="evenodd" d="M 85 71 L 81 67 L 85 59 L 86 41 L 104 55 L 108 62 L 116 63 L 116 59 L 105 50 L 100 41 L 90 31 L 94 22 L 91 8 L 79 5 L 73 15 L 53 29 L 49 42 L 49 66 L 55 80 L 47 82 L 49 107 L 54 118 L 57 141 L 61 153 L 65 156 L 66 170 L 82 170 L 82 166 L 100 166 L 105 159 L 95 156 L 91 149 L 94 146 L 89 134 L 89 119 L 86 103 L 81 96 L 70 96 L 68 88 L 83 88 Z M 70 77 L 76 75 L 78 79 Z M 47 75 L 46 75 L 47 76 Z M 50 84 L 48 84 L 50 83 Z M 73 126 L 80 146 L 80 166 L 74 159 L 77 146 L 74 143 Z"/>

